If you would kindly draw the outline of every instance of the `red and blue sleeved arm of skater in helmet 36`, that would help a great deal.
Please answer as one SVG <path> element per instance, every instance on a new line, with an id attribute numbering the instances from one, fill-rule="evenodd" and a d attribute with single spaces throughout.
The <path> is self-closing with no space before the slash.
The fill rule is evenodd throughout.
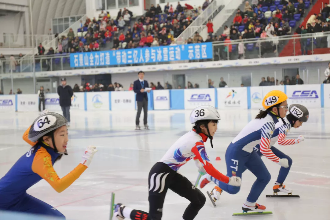
<path id="1" fill-rule="evenodd" d="M 196 158 L 199 160 L 199 162 L 201 162 L 206 173 L 210 174 L 211 176 L 222 182 L 225 183 L 229 182 L 229 177 L 217 171 L 214 168 L 214 166 L 211 164 L 211 161 L 208 155 L 206 154 L 205 146 L 202 142 L 199 141 L 196 142 L 195 146 L 191 148 L 191 152 L 193 152 L 196 155 Z"/>

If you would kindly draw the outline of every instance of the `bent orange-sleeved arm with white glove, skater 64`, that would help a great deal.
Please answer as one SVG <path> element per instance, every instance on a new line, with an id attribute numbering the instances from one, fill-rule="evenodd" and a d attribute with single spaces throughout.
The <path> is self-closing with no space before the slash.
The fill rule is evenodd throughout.
<path id="1" fill-rule="evenodd" d="M 56 190 L 56 192 L 60 193 L 76 181 L 87 169 L 95 152 L 97 152 L 95 147 L 87 147 L 82 156 L 82 162 L 73 171 L 60 179 L 53 168 L 50 154 L 45 148 L 41 147 L 37 150 L 33 159 L 32 171 L 39 174 Z"/>

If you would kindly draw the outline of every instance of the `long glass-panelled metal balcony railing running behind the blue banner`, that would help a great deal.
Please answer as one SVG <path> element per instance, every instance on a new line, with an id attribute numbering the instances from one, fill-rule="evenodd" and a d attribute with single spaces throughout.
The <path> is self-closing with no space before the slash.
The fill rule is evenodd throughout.
<path id="1" fill-rule="evenodd" d="M 300 43 L 301 48 L 305 51 L 309 51 L 309 54 L 326 54 L 330 53 L 330 31 L 320 32 L 313 34 L 302 35 L 289 35 L 281 37 L 267 37 L 267 38 L 254 38 L 244 40 L 232 40 L 230 42 L 218 41 L 213 42 L 213 58 L 204 60 L 188 60 L 188 61 L 176 61 L 176 63 L 186 62 L 204 62 L 204 61 L 219 61 L 219 60 L 237 60 L 240 59 L 258 59 L 279 57 L 281 51 L 287 44 L 292 49 L 290 56 L 302 55 L 301 51 L 297 51 L 295 44 Z M 226 48 L 227 47 L 227 48 Z M 238 53 L 238 47 L 245 47 L 242 54 Z M 330 56 L 330 55 L 329 55 Z M 14 72 L 31 72 L 20 68 L 20 61 L 0 59 L 0 73 L 9 73 L 10 70 Z M 258 61 L 262 62 L 262 60 Z M 73 70 L 73 69 L 91 69 L 91 68 L 106 68 L 106 67 L 125 67 L 125 66 L 141 66 L 141 65 L 157 65 L 157 64 L 169 64 L 169 62 L 161 63 L 148 63 L 148 64 L 125 64 L 125 65 L 112 65 L 112 66 L 94 66 L 94 67 L 70 67 L 70 54 L 56 54 L 51 56 L 36 56 L 36 72 L 46 71 L 60 71 L 60 70 Z M 15 74 L 15 73 L 14 73 Z"/>

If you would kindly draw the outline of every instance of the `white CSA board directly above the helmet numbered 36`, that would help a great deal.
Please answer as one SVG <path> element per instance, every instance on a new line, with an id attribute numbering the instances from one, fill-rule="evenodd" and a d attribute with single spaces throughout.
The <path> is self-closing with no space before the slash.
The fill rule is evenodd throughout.
<path id="1" fill-rule="evenodd" d="M 215 107 L 215 89 L 185 89 L 184 109 L 194 109 L 201 105 Z"/>

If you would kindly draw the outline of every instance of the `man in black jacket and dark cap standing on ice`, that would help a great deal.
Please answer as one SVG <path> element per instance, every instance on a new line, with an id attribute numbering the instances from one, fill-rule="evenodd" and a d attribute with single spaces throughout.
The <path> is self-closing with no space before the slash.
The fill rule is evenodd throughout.
<path id="1" fill-rule="evenodd" d="M 57 94 L 60 96 L 60 106 L 63 111 L 63 116 L 68 120 L 68 126 L 70 126 L 70 106 L 73 90 L 71 86 L 66 84 L 65 78 L 61 78 L 61 85 L 57 88 Z"/>

